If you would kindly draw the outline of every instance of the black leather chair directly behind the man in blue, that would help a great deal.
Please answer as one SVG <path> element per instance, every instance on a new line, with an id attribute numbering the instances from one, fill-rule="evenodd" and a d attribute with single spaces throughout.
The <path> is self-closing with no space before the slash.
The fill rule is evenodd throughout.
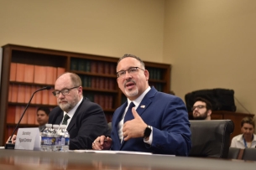
<path id="1" fill-rule="evenodd" d="M 190 121 L 191 152 L 190 157 L 227 158 L 230 134 L 234 130 L 231 120 Z"/>

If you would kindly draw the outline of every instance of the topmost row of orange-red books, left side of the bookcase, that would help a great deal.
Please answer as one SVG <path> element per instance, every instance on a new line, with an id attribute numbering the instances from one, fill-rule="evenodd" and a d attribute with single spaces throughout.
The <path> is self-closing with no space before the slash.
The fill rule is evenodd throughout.
<path id="1" fill-rule="evenodd" d="M 63 73 L 62 67 L 11 63 L 10 81 L 55 85 L 56 78 Z"/>

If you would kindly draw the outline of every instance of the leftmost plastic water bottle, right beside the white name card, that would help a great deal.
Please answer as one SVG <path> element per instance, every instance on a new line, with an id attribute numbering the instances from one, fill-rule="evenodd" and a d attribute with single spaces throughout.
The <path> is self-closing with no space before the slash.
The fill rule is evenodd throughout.
<path id="1" fill-rule="evenodd" d="M 52 151 L 52 133 L 51 124 L 46 124 L 44 131 L 41 133 L 41 151 Z"/>

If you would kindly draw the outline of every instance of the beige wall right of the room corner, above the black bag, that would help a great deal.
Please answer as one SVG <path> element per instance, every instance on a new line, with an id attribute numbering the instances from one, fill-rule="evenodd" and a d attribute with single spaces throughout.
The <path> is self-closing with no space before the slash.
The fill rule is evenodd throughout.
<path id="1" fill-rule="evenodd" d="M 193 90 L 232 89 L 256 113 L 256 1 L 171 0 L 165 12 L 164 62 L 173 65 L 172 90 L 184 99 Z"/>

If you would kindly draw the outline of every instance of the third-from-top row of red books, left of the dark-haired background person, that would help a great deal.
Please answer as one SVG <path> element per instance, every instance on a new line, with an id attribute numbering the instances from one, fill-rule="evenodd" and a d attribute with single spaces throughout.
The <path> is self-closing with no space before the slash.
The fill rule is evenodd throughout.
<path id="1" fill-rule="evenodd" d="M 29 106 L 20 124 L 38 125 L 36 112 L 38 107 Z M 8 106 L 7 123 L 17 124 L 25 110 L 25 106 Z"/>

